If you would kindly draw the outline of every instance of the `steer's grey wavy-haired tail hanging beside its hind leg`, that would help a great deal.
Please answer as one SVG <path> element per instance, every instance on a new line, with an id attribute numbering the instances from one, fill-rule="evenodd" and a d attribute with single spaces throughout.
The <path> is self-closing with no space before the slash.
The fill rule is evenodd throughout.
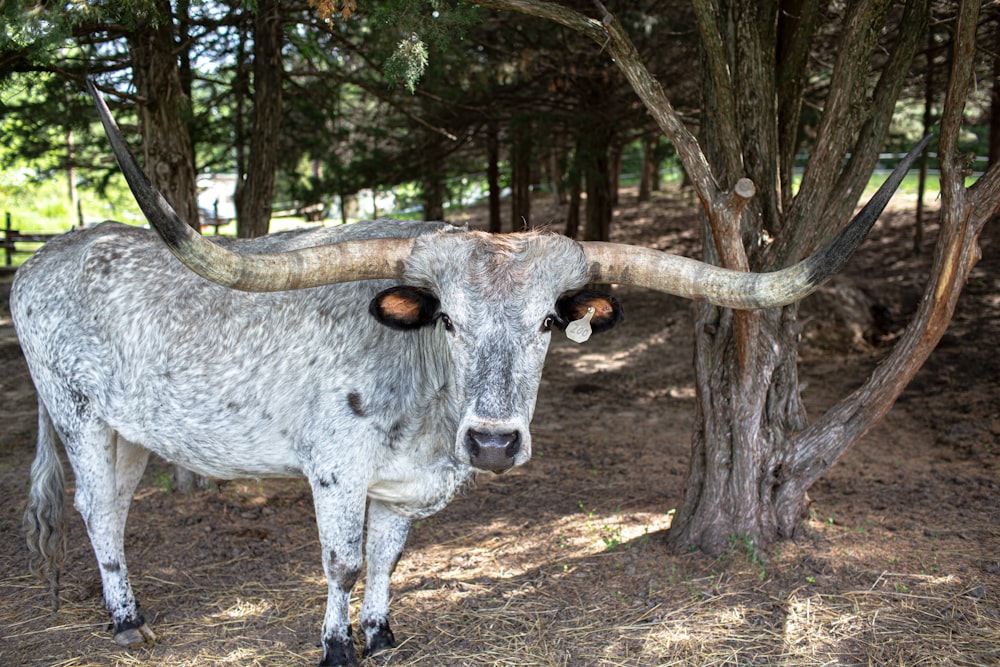
<path id="1" fill-rule="evenodd" d="M 38 399 L 38 444 L 31 464 L 31 491 L 24 531 L 31 572 L 49 582 L 52 611 L 59 608 L 59 573 L 66 556 L 66 477 L 49 411 Z"/>

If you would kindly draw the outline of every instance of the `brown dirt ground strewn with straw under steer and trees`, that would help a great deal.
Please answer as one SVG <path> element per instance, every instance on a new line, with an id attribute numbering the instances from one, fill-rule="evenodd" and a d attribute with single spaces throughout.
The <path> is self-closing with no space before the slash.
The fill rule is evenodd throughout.
<path id="1" fill-rule="evenodd" d="M 895 204 L 826 295 L 803 304 L 814 416 L 864 381 L 920 297 L 930 246 L 911 257 L 911 204 Z M 558 216 L 536 208 L 537 221 Z M 626 195 L 614 229 L 695 254 L 695 219 L 676 193 Z M 694 414 L 691 310 L 619 289 L 615 332 L 555 340 L 532 461 L 413 527 L 393 579 L 399 646 L 366 664 L 1000 664 L 1000 243 L 983 245 L 939 348 L 812 488 L 806 536 L 771 554 L 738 540 L 719 558 L 667 549 Z M 154 462 L 126 548 L 159 642 L 111 640 L 75 512 L 50 614 L 20 532 L 35 399 L 2 306 L 0 665 L 316 664 L 325 583 L 300 480 L 183 495 Z"/>

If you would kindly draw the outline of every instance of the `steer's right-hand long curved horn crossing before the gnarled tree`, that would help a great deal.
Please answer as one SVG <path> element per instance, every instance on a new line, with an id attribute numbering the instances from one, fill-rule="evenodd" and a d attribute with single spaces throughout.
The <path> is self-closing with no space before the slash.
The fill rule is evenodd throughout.
<path id="1" fill-rule="evenodd" d="M 798 264 L 770 273 L 745 273 L 620 243 L 583 243 L 594 282 L 637 285 L 726 308 L 775 308 L 799 301 L 839 271 L 875 224 L 910 165 L 930 141 L 925 137 L 832 241 Z"/>

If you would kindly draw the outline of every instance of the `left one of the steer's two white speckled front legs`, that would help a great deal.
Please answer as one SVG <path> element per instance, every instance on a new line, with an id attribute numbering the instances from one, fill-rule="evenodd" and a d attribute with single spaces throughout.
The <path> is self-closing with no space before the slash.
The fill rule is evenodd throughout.
<path id="1" fill-rule="evenodd" d="M 365 489 L 353 488 L 326 475 L 310 480 L 326 573 L 321 667 L 358 664 L 351 632 L 350 595 L 361 573 Z"/>

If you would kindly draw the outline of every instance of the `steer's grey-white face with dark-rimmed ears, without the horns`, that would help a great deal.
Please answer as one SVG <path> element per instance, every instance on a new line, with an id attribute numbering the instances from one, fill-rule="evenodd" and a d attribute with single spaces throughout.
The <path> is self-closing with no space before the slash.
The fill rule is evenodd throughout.
<path id="1" fill-rule="evenodd" d="M 457 460 L 500 473 L 531 457 L 528 424 L 552 332 L 589 308 L 595 332 L 622 318 L 613 297 L 580 289 L 587 278 L 580 246 L 565 237 L 432 235 L 418 240 L 406 283 L 372 301 L 383 324 L 434 327 L 445 341 Z"/>

